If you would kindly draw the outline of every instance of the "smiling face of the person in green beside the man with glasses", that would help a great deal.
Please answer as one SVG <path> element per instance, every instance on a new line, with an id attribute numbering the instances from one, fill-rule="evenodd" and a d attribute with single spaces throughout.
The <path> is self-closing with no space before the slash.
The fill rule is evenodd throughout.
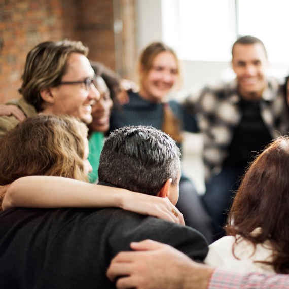
<path id="1" fill-rule="evenodd" d="M 89 129 L 92 131 L 106 132 L 110 128 L 110 115 L 113 101 L 110 91 L 102 77 L 97 77 L 96 88 L 100 93 L 100 99 L 92 106 L 92 122 Z"/>

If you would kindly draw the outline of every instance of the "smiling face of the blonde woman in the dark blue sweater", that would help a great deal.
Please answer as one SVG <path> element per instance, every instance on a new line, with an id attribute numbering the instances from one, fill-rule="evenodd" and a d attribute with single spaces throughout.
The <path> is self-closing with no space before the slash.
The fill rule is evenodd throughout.
<path id="1" fill-rule="evenodd" d="M 146 74 L 140 67 L 140 74 Z M 142 79 L 139 94 L 148 101 L 161 102 L 178 78 L 178 64 L 168 51 L 157 54 L 148 74 Z"/>

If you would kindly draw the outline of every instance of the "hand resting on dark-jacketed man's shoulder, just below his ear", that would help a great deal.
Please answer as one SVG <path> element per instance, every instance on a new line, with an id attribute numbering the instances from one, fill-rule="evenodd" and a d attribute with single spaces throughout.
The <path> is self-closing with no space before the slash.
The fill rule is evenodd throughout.
<path id="1" fill-rule="evenodd" d="M 127 195 L 124 195 L 121 208 L 185 225 L 183 214 L 170 202 L 168 197 L 161 198 L 129 192 Z"/>

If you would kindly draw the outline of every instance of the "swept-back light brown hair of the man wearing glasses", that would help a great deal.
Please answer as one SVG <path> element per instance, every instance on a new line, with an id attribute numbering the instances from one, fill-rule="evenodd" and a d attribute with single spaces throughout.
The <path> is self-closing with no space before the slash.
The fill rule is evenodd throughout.
<path id="1" fill-rule="evenodd" d="M 59 84 L 67 69 L 67 58 L 73 52 L 87 56 L 88 48 L 81 41 L 45 41 L 28 53 L 19 92 L 37 111 L 43 102 L 40 90 Z"/>

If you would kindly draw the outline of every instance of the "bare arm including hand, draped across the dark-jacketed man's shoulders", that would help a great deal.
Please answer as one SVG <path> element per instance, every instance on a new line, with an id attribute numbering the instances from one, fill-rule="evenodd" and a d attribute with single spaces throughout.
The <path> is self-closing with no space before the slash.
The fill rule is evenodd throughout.
<path id="1" fill-rule="evenodd" d="M 15 180 L 2 203 L 4 210 L 11 207 L 119 207 L 184 224 L 182 213 L 166 198 L 56 176 L 27 176 Z"/>

